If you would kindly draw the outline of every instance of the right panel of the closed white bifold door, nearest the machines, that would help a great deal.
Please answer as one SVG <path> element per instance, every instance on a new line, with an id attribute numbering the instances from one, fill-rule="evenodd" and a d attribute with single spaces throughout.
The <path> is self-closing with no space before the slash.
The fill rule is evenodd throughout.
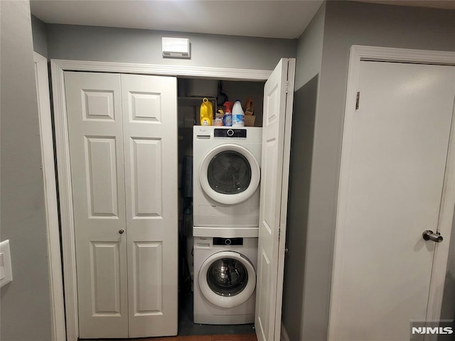
<path id="1" fill-rule="evenodd" d="M 129 337 L 177 335 L 177 80 L 122 75 Z"/>

